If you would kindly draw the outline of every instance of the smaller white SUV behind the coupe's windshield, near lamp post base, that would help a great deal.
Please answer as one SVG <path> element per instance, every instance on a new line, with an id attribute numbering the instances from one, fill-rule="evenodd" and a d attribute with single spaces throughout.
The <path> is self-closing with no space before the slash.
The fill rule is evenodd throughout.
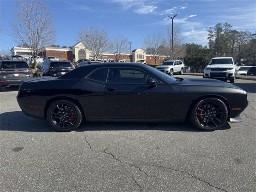
<path id="1" fill-rule="evenodd" d="M 184 64 L 180 60 L 164 61 L 160 66 L 156 66 L 156 69 L 172 76 L 174 73 L 183 74 Z"/>

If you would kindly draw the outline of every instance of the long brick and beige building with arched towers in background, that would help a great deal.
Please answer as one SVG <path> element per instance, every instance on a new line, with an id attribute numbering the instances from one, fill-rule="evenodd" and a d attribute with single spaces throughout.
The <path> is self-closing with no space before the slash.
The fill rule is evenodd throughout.
<path id="1" fill-rule="evenodd" d="M 28 58 L 31 56 L 30 50 L 24 47 L 13 47 L 11 49 L 12 55 L 21 55 L 24 58 Z M 89 54 L 85 45 L 82 42 L 78 42 L 74 44 L 70 48 L 60 48 L 60 47 L 49 47 L 45 46 L 42 48 L 42 51 L 39 53 L 40 57 L 50 57 L 54 56 L 59 58 L 60 60 L 70 60 L 70 61 L 78 61 L 80 59 L 90 59 L 92 60 L 92 56 Z M 132 57 L 132 62 L 142 62 L 142 63 L 150 63 L 153 64 L 155 62 L 154 58 L 150 54 L 146 54 L 146 51 L 142 48 L 136 48 L 132 50 L 132 55 L 124 54 L 121 60 L 130 62 L 130 56 Z M 102 61 L 114 61 L 115 55 L 113 53 L 104 53 L 101 58 Z M 166 59 L 166 56 L 160 56 L 157 59 L 157 63 L 160 64 L 163 60 Z"/>

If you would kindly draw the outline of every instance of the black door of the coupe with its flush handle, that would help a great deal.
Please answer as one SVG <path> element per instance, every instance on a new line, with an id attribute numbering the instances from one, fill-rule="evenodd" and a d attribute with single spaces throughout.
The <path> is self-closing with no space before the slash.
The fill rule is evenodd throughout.
<path id="1" fill-rule="evenodd" d="M 123 83 L 135 80 L 132 78 L 129 80 L 128 73 L 121 72 L 120 74 L 116 78 L 109 78 L 110 83 L 106 83 L 104 87 L 104 100 L 109 118 L 172 118 L 174 91 L 169 85 L 158 82 L 157 86 L 153 87 L 146 83 Z M 135 74 L 138 73 L 135 72 Z M 113 79 L 116 79 L 116 82 L 113 82 Z"/>

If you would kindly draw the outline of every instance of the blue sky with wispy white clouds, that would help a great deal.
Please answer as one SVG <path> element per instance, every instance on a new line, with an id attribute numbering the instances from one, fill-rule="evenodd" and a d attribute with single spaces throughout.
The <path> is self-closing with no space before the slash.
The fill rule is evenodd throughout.
<path id="1" fill-rule="evenodd" d="M 56 41 L 60 46 L 77 42 L 84 26 L 107 26 L 108 36 L 117 34 L 132 41 L 132 48 L 143 47 L 143 36 L 151 32 L 166 34 L 171 24 L 167 16 L 178 14 L 174 25 L 181 27 L 186 43 L 207 44 L 207 30 L 218 22 L 229 22 L 233 29 L 256 31 L 255 0 L 46 0 L 55 13 Z M 0 50 L 17 43 L 9 35 L 8 24 L 14 19 L 14 1 L 0 0 L 3 30 Z"/>

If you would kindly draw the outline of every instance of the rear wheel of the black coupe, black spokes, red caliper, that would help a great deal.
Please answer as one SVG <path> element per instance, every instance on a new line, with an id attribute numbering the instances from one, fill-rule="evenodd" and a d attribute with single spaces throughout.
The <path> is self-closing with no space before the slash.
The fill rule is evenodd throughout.
<path id="1" fill-rule="evenodd" d="M 58 131 L 68 132 L 75 130 L 81 124 L 82 119 L 82 109 L 69 100 L 53 102 L 47 110 L 49 124 Z"/>

